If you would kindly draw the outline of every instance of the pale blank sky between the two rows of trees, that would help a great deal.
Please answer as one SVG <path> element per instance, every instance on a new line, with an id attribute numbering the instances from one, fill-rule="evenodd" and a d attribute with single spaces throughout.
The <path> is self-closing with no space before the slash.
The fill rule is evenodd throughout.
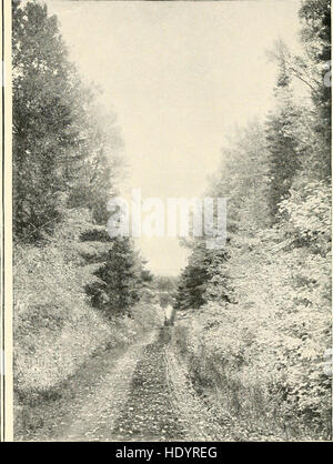
<path id="1" fill-rule="evenodd" d="M 130 174 L 123 193 L 200 196 L 236 125 L 272 104 L 265 51 L 297 47 L 299 1 L 48 1 L 71 60 L 118 114 Z M 140 239 L 157 273 L 178 274 L 176 239 Z"/>

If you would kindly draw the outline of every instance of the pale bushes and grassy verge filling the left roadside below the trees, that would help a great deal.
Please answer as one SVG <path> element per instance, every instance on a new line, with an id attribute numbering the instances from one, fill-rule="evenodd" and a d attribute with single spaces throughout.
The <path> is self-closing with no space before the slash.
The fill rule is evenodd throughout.
<path id="1" fill-rule="evenodd" d="M 14 250 L 17 440 L 52 427 L 62 407 L 103 372 L 100 360 L 112 363 L 162 323 L 144 299 L 130 315 L 105 317 L 91 306 L 84 285 L 94 279 L 94 265 L 85 265 L 77 244 L 85 226 L 72 218 L 43 246 Z"/>

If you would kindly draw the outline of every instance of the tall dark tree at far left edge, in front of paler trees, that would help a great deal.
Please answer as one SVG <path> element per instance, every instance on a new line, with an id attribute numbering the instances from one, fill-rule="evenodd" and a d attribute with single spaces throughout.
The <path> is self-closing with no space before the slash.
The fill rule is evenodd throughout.
<path id="1" fill-rule="evenodd" d="M 65 163 L 77 143 L 72 69 L 56 17 L 44 4 L 12 9 L 13 231 L 40 238 L 62 216 Z"/>

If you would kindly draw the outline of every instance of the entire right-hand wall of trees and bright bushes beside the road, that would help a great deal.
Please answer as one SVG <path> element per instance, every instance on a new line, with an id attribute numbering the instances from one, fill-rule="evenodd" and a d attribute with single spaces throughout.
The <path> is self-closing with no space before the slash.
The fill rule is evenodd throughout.
<path id="1" fill-rule="evenodd" d="M 176 307 L 193 377 L 240 423 L 331 434 L 331 7 L 305 0 L 303 54 L 282 41 L 274 110 L 222 150 L 208 194 L 228 199 L 228 242 L 188 243 Z M 302 83 L 306 97 L 295 95 Z M 304 90 L 303 89 L 303 90 Z"/>

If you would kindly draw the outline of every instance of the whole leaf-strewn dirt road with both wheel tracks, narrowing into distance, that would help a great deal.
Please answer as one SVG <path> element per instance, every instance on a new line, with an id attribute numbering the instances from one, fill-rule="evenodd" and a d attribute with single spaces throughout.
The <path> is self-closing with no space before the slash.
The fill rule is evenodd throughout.
<path id="1" fill-rule="evenodd" d="M 196 395 L 162 327 L 131 346 L 117 362 L 104 353 L 102 374 L 53 414 L 53 426 L 38 441 L 208 441 L 232 440 Z M 80 390 L 80 389 L 79 389 Z"/>

